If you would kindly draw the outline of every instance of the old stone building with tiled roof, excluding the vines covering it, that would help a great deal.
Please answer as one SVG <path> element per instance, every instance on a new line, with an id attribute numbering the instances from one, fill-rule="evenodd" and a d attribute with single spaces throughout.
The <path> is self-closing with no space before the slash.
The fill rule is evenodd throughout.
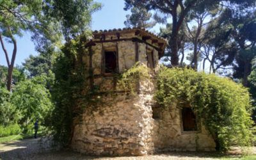
<path id="1" fill-rule="evenodd" d="M 214 150 L 212 136 L 189 106 L 161 108 L 154 102 L 154 78 L 140 81 L 137 94 L 118 86 L 115 73 L 140 61 L 157 70 L 166 41 L 145 29 L 94 31 L 83 61 L 99 86 L 100 105 L 75 120 L 72 148 L 91 155 L 146 155 L 168 150 Z M 96 97 L 97 99 L 97 97 Z M 79 120 L 78 120 L 79 119 Z"/>

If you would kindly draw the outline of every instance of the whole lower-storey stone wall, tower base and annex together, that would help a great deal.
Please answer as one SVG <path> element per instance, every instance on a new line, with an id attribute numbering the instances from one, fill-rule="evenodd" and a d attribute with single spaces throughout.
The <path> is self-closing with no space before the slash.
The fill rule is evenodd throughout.
<path id="1" fill-rule="evenodd" d="M 97 97 L 76 120 L 72 148 L 90 155 L 147 155 L 162 151 L 214 150 L 215 143 L 202 123 L 196 132 L 182 132 L 180 109 L 157 108 L 154 85 L 140 83 L 138 95 L 114 93 Z M 154 113 L 153 113 L 154 111 Z M 154 119 L 153 114 L 159 115 Z"/>

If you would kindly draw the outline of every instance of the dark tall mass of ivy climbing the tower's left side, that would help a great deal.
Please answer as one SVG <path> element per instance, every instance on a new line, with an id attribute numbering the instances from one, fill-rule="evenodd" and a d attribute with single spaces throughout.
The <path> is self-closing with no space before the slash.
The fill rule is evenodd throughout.
<path id="1" fill-rule="evenodd" d="M 83 90 L 86 89 L 84 83 L 88 70 L 86 72 L 81 58 L 87 52 L 84 49 L 87 36 L 88 33 L 70 40 L 53 65 L 55 81 L 52 86 L 52 99 L 55 105 L 49 127 L 54 140 L 61 145 L 70 143 L 74 127 L 73 118 L 81 114 L 83 99 L 86 99 Z"/>

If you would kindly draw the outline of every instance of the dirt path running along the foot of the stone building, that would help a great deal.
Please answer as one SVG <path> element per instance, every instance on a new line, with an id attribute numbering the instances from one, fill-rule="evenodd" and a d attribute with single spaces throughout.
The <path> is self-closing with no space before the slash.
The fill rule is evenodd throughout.
<path id="1" fill-rule="evenodd" d="M 232 156 L 236 156 L 234 151 Z M 231 156 L 231 157 L 232 157 Z M 77 152 L 53 151 L 49 140 L 47 139 L 27 139 L 22 141 L 12 141 L 7 143 L 0 143 L 0 159 L 113 159 L 113 160 L 160 160 L 160 159 L 219 159 L 218 154 L 212 152 L 169 152 L 167 154 L 157 154 L 152 156 L 140 157 L 90 157 L 84 156 Z M 238 156 L 239 157 L 239 156 Z"/>

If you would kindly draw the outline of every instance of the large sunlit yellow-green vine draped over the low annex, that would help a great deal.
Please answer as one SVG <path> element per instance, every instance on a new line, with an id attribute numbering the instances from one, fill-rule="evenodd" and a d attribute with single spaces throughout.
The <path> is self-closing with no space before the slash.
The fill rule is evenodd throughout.
<path id="1" fill-rule="evenodd" d="M 252 144 L 252 105 L 241 84 L 214 74 L 186 68 L 163 67 L 157 76 L 155 95 L 161 106 L 189 104 L 216 142 L 216 149 Z"/>

